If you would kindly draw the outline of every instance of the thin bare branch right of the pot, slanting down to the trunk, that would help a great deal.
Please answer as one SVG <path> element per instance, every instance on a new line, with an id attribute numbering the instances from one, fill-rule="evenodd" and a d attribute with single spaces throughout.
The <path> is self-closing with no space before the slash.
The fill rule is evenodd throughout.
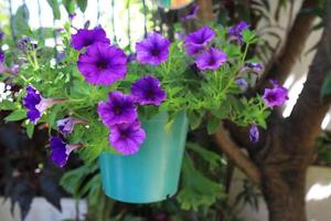
<path id="1" fill-rule="evenodd" d="M 218 148 L 256 185 L 260 183 L 260 172 L 257 166 L 237 147 L 223 126 L 215 134 Z"/>

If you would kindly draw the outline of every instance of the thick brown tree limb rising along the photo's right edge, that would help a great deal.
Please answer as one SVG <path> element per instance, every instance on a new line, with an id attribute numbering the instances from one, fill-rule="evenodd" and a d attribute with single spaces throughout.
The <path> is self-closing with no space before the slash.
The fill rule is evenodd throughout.
<path id="1" fill-rule="evenodd" d="M 310 66 L 305 87 L 287 120 L 290 130 L 296 131 L 303 146 L 312 147 L 314 138 L 321 131 L 321 123 L 325 116 L 330 99 L 321 98 L 321 87 L 328 74 L 331 73 L 331 2 L 327 1 L 327 18 L 324 31 L 317 54 Z"/>

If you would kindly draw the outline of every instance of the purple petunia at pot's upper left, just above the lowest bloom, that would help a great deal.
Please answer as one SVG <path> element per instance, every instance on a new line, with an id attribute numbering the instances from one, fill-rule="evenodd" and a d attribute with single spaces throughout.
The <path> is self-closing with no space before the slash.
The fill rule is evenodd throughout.
<path id="1" fill-rule="evenodd" d="M 120 92 L 110 92 L 107 102 L 99 102 L 98 114 L 104 125 L 131 123 L 137 119 L 137 107 L 134 97 Z"/>

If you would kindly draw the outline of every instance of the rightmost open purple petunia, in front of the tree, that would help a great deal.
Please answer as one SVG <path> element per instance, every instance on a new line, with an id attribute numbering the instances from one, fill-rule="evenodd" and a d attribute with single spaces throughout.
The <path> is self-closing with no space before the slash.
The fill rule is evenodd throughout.
<path id="1" fill-rule="evenodd" d="M 270 81 L 274 88 L 266 88 L 263 99 L 269 107 L 281 106 L 288 99 L 288 90 L 276 81 Z"/>

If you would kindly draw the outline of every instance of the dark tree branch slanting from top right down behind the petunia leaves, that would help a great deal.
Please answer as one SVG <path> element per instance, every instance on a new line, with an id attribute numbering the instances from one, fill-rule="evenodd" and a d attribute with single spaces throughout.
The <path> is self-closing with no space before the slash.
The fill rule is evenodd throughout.
<path id="1" fill-rule="evenodd" d="M 258 83 L 258 90 L 263 90 L 268 85 L 269 80 L 277 80 L 281 84 L 290 74 L 305 49 L 305 43 L 311 32 L 316 15 L 311 13 L 311 9 L 318 6 L 317 0 L 305 0 L 301 9 L 296 17 L 293 24 L 286 38 L 280 53 L 265 69 L 265 74 Z"/>

